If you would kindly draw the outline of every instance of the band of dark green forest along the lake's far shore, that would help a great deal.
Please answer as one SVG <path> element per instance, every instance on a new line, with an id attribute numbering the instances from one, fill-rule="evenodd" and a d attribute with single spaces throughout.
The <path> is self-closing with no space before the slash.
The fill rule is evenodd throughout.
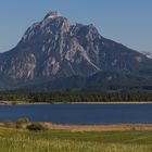
<path id="1" fill-rule="evenodd" d="M 152 91 L 0 91 L 0 101 L 26 101 L 30 103 L 152 101 Z"/>

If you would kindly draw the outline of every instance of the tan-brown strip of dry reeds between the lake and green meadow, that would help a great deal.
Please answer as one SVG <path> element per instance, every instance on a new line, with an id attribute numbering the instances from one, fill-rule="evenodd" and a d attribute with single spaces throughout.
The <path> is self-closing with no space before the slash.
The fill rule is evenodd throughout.
<path id="1" fill-rule="evenodd" d="M 148 131 L 152 130 L 152 124 L 111 124 L 111 125 L 64 125 L 49 122 L 38 122 L 48 130 L 60 130 L 69 132 L 103 132 L 103 131 Z M 29 125 L 29 124 L 28 124 Z M 15 126 L 15 123 L 14 123 Z M 5 127 L 4 122 L 0 122 L 0 127 Z M 12 128 L 13 129 L 13 128 Z M 22 130 L 26 127 L 22 128 Z M 18 129 L 20 130 L 20 129 Z"/>

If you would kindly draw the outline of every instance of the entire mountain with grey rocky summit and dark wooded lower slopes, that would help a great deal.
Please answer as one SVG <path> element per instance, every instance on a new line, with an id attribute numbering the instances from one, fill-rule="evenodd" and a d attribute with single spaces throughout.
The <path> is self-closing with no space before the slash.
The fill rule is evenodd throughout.
<path id="1" fill-rule="evenodd" d="M 49 12 L 0 54 L 1 89 L 131 88 L 150 85 L 151 74 L 151 59 L 104 38 L 92 24 L 72 25 L 59 12 Z"/>

